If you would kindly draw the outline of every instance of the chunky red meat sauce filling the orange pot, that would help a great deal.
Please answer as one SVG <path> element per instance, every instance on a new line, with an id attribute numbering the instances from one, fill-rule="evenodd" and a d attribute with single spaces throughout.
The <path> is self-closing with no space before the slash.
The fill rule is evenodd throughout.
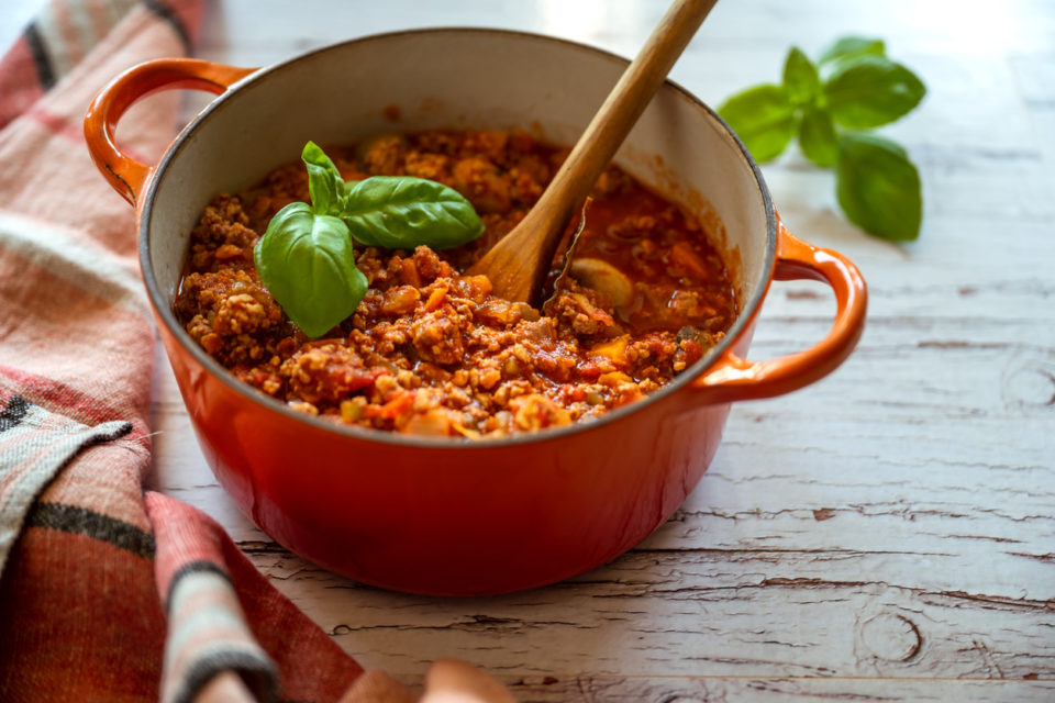
<path id="1" fill-rule="evenodd" d="M 568 275 L 554 269 L 540 310 L 496 298 L 486 277 L 460 271 L 523 219 L 566 149 L 525 132 L 430 131 L 330 154 L 348 180 L 415 176 L 456 189 L 485 232 L 440 253 L 357 246 L 366 295 L 311 339 L 253 263 L 270 217 L 308 200 L 304 169 L 282 166 L 216 197 L 191 232 L 176 313 L 237 379 L 295 410 L 470 438 L 565 425 L 670 381 L 736 317 L 733 277 L 700 222 L 615 166 L 598 179 Z"/>

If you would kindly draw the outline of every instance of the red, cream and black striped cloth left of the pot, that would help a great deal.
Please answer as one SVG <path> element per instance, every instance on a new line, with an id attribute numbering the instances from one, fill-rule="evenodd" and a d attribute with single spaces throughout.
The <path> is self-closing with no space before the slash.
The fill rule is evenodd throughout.
<path id="1" fill-rule="evenodd" d="M 132 209 L 81 121 L 132 65 L 188 53 L 202 0 L 52 0 L 0 60 L 0 701 L 410 702 L 199 511 L 144 494 L 154 333 Z M 178 94 L 122 122 L 160 154 Z M 424 701 L 512 701 L 433 665 Z"/>

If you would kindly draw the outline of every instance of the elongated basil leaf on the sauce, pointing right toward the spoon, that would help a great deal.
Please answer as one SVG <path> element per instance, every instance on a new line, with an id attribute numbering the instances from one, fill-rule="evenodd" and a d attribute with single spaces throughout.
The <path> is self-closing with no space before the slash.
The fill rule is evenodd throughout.
<path id="1" fill-rule="evenodd" d="M 447 249 L 484 233 L 484 223 L 462 193 L 410 176 L 371 176 L 348 183 L 341 217 L 356 241 L 387 249 L 422 244 Z"/>

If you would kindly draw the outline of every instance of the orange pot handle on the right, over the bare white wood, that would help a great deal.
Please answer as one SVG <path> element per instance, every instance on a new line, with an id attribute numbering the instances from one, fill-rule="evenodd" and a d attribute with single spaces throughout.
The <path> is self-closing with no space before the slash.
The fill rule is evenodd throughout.
<path id="1" fill-rule="evenodd" d="M 835 291 L 836 312 L 831 331 L 804 352 L 768 361 L 748 361 L 728 350 L 692 388 L 696 401 L 708 403 L 773 398 L 826 376 L 857 346 L 865 327 L 868 289 L 857 267 L 832 249 L 795 237 L 777 221 L 775 280 L 813 279 Z"/>

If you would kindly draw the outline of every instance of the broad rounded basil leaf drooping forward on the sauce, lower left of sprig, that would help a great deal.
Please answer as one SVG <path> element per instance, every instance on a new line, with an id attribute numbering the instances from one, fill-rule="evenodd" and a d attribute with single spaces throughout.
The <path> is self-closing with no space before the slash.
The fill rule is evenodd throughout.
<path id="1" fill-rule="evenodd" d="M 324 335 L 355 312 L 366 293 L 348 227 L 303 202 L 271 217 L 253 259 L 260 282 L 309 337 Z"/>

